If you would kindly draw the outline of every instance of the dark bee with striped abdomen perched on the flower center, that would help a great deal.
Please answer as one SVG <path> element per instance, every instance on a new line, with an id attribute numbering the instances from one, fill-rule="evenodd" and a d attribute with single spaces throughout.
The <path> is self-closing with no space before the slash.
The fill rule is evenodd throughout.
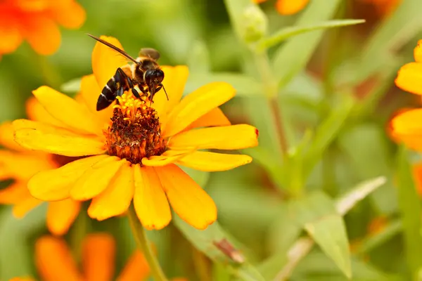
<path id="1" fill-rule="evenodd" d="M 134 64 L 130 66 L 130 71 L 124 71 L 121 67 L 118 67 L 113 77 L 108 80 L 106 86 L 104 86 L 98 97 L 96 110 L 100 111 L 108 107 L 118 97 L 122 96 L 124 91 L 132 91 L 136 98 L 141 98 L 139 92 L 136 91 L 135 86 L 138 86 L 139 90 L 143 93 L 143 96 L 148 96 L 151 103 L 155 93 L 164 90 L 167 100 L 167 92 L 162 86 L 162 80 L 164 79 L 164 72 L 160 69 L 157 60 L 160 58 L 160 53 L 153 48 L 141 48 L 139 51 L 139 57 L 134 59 L 128 55 L 125 51 L 117 48 L 113 44 L 104 41 L 98 37 L 88 34 L 89 37 L 96 39 L 96 41 L 112 48 L 113 50 L 123 55 Z"/>

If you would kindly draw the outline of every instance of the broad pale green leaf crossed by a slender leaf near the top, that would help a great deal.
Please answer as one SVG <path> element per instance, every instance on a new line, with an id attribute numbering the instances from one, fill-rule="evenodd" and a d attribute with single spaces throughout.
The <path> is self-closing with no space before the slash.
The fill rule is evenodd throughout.
<path id="1" fill-rule="evenodd" d="M 296 25 L 312 25 L 314 22 L 329 20 L 337 10 L 340 0 L 309 1 L 308 7 L 300 16 Z M 274 56 L 274 75 L 281 87 L 286 86 L 307 64 L 312 53 L 324 34 L 324 30 L 316 30 L 300 34 L 283 44 Z"/>

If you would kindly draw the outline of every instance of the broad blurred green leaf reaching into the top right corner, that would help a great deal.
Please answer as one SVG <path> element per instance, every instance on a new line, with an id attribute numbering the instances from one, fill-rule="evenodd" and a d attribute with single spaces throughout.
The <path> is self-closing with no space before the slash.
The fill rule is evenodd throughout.
<path id="1" fill-rule="evenodd" d="M 395 13 L 381 23 L 364 46 L 355 84 L 383 70 L 390 64 L 391 52 L 399 50 L 421 30 L 421 1 L 401 1 Z"/>

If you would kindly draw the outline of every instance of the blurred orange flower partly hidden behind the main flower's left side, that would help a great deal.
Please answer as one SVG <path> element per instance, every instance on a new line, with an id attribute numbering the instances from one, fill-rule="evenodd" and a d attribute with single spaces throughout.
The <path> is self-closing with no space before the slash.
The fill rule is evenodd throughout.
<path id="1" fill-rule="evenodd" d="M 53 124 L 53 117 L 31 98 L 27 102 L 27 115 L 32 119 L 46 124 Z M 0 204 L 13 204 L 13 214 L 20 218 L 28 211 L 41 204 L 27 188 L 27 181 L 39 171 L 56 169 L 71 162 L 75 157 L 63 157 L 44 152 L 26 150 L 13 141 L 11 123 L 0 126 L 0 144 L 8 150 L 0 150 L 0 180 L 11 179 L 14 182 L 0 190 Z M 74 200 L 60 200 L 50 202 L 47 211 L 47 228 L 55 235 L 68 232 L 80 209 L 80 202 Z"/>

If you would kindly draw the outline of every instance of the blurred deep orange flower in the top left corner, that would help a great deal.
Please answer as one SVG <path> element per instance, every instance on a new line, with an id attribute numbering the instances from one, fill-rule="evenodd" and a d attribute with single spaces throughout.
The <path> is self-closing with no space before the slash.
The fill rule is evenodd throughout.
<path id="1" fill-rule="evenodd" d="M 85 11 L 74 0 L 0 1 L 0 55 L 13 53 L 25 39 L 41 55 L 60 46 L 58 25 L 76 29 L 85 21 Z"/>

